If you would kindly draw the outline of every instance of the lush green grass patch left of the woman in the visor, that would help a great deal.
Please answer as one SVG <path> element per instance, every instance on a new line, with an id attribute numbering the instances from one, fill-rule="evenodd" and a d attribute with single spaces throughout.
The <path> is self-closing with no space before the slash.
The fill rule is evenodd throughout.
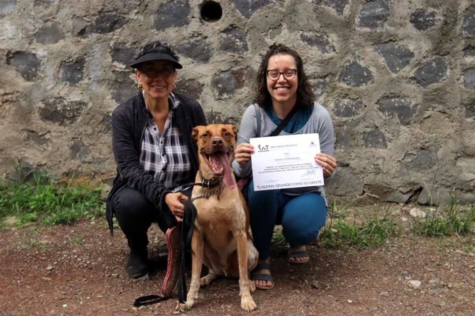
<path id="1" fill-rule="evenodd" d="M 38 222 L 42 225 L 72 224 L 81 218 L 104 213 L 100 189 L 86 185 L 50 181 L 34 175 L 34 181 L 13 183 L 0 189 L 0 220 L 17 218 L 19 227 Z"/>

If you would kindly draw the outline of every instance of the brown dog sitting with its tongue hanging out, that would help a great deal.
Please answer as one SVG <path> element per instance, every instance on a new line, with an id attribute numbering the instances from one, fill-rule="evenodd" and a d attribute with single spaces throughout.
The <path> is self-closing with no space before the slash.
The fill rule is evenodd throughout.
<path id="1" fill-rule="evenodd" d="M 191 309 L 200 285 L 207 285 L 218 276 L 228 276 L 239 278 L 241 308 L 253 311 L 257 306 L 251 293 L 256 286 L 249 280 L 249 273 L 257 264 L 258 252 L 248 234 L 247 205 L 230 165 L 237 130 L 231 124 L 211 124 L 193 128 L 191 135 L 198 146 L 196 182 L 211 180 L 217 186 L 193 188 L 191 198 L 197 215 L 191 239 L 190 290 L 187 303 L 179 304 L 177 310 Z M 200 279 L 203 263 L 209 273 Z"/>

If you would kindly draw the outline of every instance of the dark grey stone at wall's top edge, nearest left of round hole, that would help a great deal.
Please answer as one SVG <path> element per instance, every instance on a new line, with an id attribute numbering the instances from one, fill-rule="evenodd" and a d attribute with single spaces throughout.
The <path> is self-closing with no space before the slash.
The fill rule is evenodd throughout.
<path id="1" fill-rule="evenodd" d="M 165 31 L 171 27 L 181 27 L 190 23 L 190 3 L 188 0 L 169 1 L 160 6 L 155 15 L 153 27 Z"/>

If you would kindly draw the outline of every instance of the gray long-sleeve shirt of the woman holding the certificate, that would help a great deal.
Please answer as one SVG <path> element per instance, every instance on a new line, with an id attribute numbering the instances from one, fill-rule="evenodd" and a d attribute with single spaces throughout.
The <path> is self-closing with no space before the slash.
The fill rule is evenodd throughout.
<path id="1" fill-rule="evenodd" d="M 254 137 L 264 137 L 270 135 L 276 128 L 277 125 L 272 121 L 271 118 L 267 115 L 266 111 L 261 107 L 258 107 L 261 116 L 261 130 L 260 133 L 257 131 L 257 117 L 254 105 L 251 104 L 244 111 L 244 115 L 241 119 L 241 124 L 239 126 L 238 133 L 238 144 L 249 143 L 250 138 Z M 324 154 L 333 156 L 333 145 L 334 145 L 334 133 L 333 133 L 333 123 L 330 113 L 325 109 L 321 104 L 314 103 L 314 109 L 310 118 L 305 123 L 305 125 L 295 133 L 287 133 L 282 130 L 279 135 L 297 135 L 297 134 L 310 134 L 318 133 L 320 139 L 320 151 Z M 251 162 L 247 162 L 243 166 L 239 165 L 236 159 L 232 162 L 232 167 L 234 172 L 241 178 L 246 177 L 252 172 Z M 328 178 L 325 179 L 325 183 L 328 181 Z M 325 190 L 323 186 L 318 187 L 304 187 L 304 188 L 294 188 L 294 189 L 282 189 L 282 192 L 286 195 L 301 195 L 309 192 L 318 192 L 324 198 Z M 327 205 L 328 206 L 328 205 Z"/>

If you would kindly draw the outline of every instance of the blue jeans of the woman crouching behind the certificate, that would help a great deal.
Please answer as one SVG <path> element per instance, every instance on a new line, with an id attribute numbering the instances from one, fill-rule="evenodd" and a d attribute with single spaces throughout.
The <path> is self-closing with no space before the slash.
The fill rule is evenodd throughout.
<path id="1" fill-rule="evenodd" d="M 325 225 L 327 206 L 318 193 L 287 196 L 281 190 L 254 191 L 251 180 L 248 194 L 249 220 L 259 259 L 270 256 L 275 225 L 282 225 L 290 247 L 309 244 Z"/>

